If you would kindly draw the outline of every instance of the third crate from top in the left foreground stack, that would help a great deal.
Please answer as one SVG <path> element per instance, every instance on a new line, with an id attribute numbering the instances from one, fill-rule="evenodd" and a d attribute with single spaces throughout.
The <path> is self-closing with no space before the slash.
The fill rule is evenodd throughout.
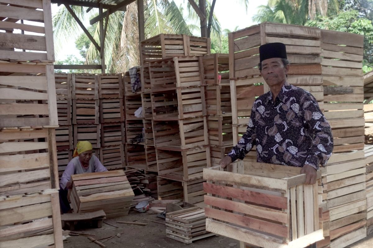
<path id="1" fill-rule="evenodd" d="M 0 173 L 2 196 L 59 189 L 54 129 L 1 130 Z"/>

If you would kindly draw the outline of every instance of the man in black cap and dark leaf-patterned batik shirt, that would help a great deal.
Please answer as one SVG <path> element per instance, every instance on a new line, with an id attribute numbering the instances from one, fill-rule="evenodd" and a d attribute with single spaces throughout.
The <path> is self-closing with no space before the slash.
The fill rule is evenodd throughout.
<path id="1" fill-rule="evenodd" d="M 308 91 L 286 81 L 290 65 L 285 45 L 261 45 L 259 53 L 259 70 L 270 91 L 255 100 L 246 133 L 220 166 L 244 159 L 256 145 L 258 162 L 303 167 L 306 184 L 314 184 L 319 165 L 325 166 L 332 155 L 329 123 Z"/>

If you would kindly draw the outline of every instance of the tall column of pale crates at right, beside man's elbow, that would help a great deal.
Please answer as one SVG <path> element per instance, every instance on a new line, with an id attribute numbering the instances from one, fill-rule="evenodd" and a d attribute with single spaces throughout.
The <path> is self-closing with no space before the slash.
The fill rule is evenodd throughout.
<path id="1" fill-rule="evenodd" d="M 333 132 L 326 166 L 330 248 L 366 236 L 367 192 L 364 161 L 363 36 L 321 30 L 324 114 Z"/>

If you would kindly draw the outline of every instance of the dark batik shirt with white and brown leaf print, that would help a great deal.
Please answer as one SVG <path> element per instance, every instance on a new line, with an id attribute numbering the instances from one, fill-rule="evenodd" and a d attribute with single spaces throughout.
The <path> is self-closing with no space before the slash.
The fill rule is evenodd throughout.
<path id="1" fill-rule="evenodd" d="M 314 97 L 286 83 L 275 101 L 271 91 L 255 100 L 246 133 L 228 155 L 242 160 L 253 145 L 258 162 L 317 170 L 332 155 L 333 136 Z"/>

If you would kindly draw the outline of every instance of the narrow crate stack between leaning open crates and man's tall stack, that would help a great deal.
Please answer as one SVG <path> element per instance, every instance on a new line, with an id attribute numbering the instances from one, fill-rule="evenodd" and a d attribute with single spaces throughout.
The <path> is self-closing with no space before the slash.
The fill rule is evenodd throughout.
<path id="1" fill-rule="evenodd" d="M 207 148 L 207 156 L 210 157 L 210 167 L 219 165 L 219 161 L 233 145 L 229 55 L 205 55 L 202 63 L 210 145 Z"/>

